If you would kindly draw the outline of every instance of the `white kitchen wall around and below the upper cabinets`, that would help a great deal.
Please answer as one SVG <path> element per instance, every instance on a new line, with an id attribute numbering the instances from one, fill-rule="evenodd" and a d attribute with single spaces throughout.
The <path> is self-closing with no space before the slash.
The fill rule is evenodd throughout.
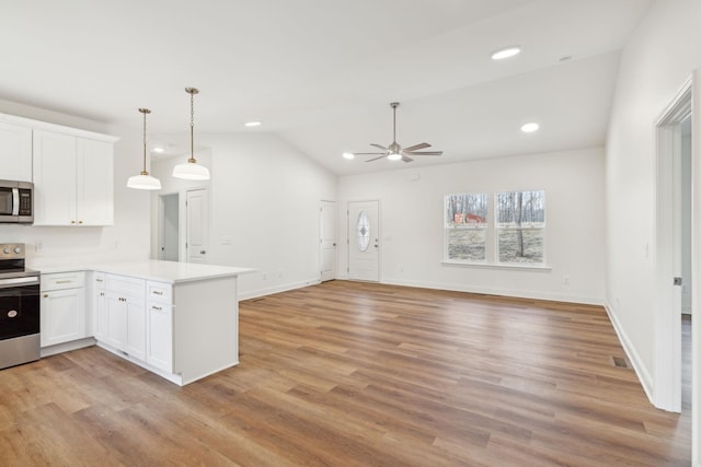
<path id="1" fill-rule="evenodd" d="M 4 101 L 0 101 L 0 113 L 120 138 L 115 144 L 114 157 L 114 226 L 38 227 L 0 224 L 0 242 L 26 243 L 27 258 L 36 266 L 66 261 L 92 262 L 103 259 L 148 257 L 148 205 L 140 201 L 140 194 L 126 188 L 127 178 L 138 174 L 141 167 L 141 133 L 138 127 L 135 129 L 111 127 L 80 117 Z M 1 178 L 3 178 L 2 174 L 0 174 Z M 43 246 L 38 252 L 35 250 L 37 243 Z"/>

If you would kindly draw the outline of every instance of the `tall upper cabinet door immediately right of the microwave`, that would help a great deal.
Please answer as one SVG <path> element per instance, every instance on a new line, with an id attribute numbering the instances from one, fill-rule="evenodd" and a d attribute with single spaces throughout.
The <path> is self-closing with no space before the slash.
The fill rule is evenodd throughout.
<path id="1" fill-rule="evenodd" d="M 34 225 L 74 225 L 76 137 L 34 130 Z"/>

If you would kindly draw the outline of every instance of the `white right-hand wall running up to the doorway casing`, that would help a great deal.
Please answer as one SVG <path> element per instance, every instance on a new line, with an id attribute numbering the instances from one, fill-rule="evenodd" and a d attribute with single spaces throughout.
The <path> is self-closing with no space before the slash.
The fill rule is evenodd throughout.
<path id="1" fill-rule="evenodd" d="M 655 125 L 701 66 L 701 2 L 658 1 L 627 44 L 607 141 L 607 291 L 644 384 L 654 374 Z"/>

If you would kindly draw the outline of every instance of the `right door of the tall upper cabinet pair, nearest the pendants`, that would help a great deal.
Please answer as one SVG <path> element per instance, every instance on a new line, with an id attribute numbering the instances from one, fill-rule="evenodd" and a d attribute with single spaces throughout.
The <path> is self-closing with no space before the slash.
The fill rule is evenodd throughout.
<path id="1" fill-rule="evenodd" d="M 78 139 L 78 218 L 82 225 L 114 223 L 114 144 Z"/>

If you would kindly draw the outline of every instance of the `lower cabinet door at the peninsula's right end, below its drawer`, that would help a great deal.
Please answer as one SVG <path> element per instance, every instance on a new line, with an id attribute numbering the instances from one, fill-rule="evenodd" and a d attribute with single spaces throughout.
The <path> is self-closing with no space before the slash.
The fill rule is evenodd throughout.
<path id="1" fill-rule="evenodd" d="M 149 302 L 147 305 L 146 362 L 165 372 L 173 372 L 173 306 Z"/>

